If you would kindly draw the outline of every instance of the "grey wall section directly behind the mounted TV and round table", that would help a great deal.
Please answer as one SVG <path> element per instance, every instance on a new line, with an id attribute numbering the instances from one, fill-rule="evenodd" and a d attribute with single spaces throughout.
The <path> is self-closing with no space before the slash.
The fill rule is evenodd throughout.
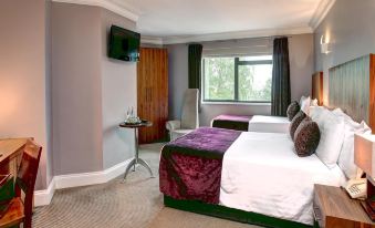
<path id="1" fill-rule="evenodd" d="M 101 10 L 102 23 L 102 124 L 103 166 L 110 168 L 134 154 L 133 129 L 119 128 L 127 107 L 137 108 L 136 63 L 107 58 L 107 37 L 112 24 L 135 30 L 135 23 L 111 11 Z"/>

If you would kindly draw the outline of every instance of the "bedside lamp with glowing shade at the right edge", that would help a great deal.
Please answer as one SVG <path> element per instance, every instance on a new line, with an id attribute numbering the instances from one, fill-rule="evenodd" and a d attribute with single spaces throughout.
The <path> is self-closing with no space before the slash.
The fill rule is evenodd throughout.
<path id="1" fill-rule="evenodd" d="M 354 163 L 366 174 L 367 197 L 361 205 L 375 219 L 375 135 L 354 135 Z"/>

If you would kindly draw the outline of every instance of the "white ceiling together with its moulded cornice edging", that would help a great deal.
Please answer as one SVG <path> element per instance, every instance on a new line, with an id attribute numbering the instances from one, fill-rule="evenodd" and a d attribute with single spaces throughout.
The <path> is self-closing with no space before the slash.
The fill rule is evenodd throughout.
<path id="1" fill-rule="evenodd" d="M 106 8 L 137 23 L 143 41 L 184 43 L 310 33 L 335 0 L 52 0 Z"/>

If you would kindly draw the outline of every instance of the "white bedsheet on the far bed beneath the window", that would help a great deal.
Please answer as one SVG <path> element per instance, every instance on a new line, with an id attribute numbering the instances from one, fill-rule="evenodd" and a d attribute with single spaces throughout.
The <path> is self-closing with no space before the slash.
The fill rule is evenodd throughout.
<path id="1" fill-rule="evenodd" d="M 254 115 L 249 122 L 249 132 L 288 133 L 288 117 Z"/>

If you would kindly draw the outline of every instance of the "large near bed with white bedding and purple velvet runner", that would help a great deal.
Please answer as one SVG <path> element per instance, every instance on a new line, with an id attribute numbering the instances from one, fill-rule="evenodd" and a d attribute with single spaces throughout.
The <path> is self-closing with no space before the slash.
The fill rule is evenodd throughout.
<path id="1" fill-rule="evenodd" d="M 313 185 L 346 180 L 288 134 L 209 127 L 167 144 L 159 174 L 166 206 L 271 227 L 310 227 Z"/>

